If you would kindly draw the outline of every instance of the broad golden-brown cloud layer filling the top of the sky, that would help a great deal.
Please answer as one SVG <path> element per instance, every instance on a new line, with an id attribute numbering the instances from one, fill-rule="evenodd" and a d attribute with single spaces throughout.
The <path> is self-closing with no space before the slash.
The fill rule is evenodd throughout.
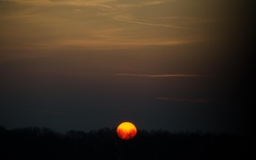
<path id="1" fill-rule="evenodd" d="M 158 11 L 166 6 L 164 3 L 168 1 L 164 0 L 11 2 L 23 4 L 0 14 L 0 23 L 5 23 L 0 26 L 0 40 L 4 41 L 0 49 L 82 47 L 101 50 L 181 46 L 208 40 L 207 36 L 192 29 L 193 26 L 181 23 L 181 17 L 171 17 L 169 11 Z M 119 4 L 130 8 L 119 8 Z M 149 12 L 154 6 L 148 5 L 159 4 L 161 6 L 155 8 L 157 13 Z M 177 20 L 173 21 L 174 18 Z"/>

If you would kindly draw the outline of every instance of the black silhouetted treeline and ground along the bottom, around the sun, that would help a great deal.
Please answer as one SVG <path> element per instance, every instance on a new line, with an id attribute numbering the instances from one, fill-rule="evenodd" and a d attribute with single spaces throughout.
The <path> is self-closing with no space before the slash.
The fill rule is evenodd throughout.
<path id="1" fill-rule="evenodd" d="M 0 127 L 0 159 L 253 159 L 254 142 L 242 135 L 200 132 L 139 130 L 124 141 L 115 128 L 59 134 L 41 127 Z"/>

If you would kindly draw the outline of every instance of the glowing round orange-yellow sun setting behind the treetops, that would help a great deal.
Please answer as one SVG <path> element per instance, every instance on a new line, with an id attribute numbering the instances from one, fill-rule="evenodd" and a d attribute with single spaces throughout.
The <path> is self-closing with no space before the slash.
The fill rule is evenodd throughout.
<path id="1" fill-rule="evenodd" d="M 131 140 L 136 134 L 137 129 L 131 122 L 123 122 L 117 127 L 117 135 L 123 140 Z"/>

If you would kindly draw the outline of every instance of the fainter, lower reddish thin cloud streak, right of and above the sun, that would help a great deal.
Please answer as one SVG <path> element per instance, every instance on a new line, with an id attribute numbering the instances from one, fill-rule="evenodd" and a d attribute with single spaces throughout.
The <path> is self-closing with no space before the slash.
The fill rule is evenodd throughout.
<path id="1" fill-rule="evenodd" d="M 212 102 L 213 98 L 165 98 L 157 97 L 156 99 L 172 102 L 188 102 L 188 103 L 209 103 Z"/>

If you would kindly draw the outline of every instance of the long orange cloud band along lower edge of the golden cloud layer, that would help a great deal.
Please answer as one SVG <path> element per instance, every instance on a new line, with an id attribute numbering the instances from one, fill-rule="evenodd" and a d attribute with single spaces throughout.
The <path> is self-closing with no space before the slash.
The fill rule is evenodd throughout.
<path id="1" fill-rule="evenodd" d="M 99 38 L 104 38 L 99 35 Z M 136 48 L 136 47 L 154 47 L 154 46 L 178 46 L 189 43 L 199 42 L 200 40 L 123 40 L 121 38 L 106 40 L 49 40 L 41 43 L 21 43 L 19 45 L 0 45 L 1 49 L 50 49 L 50 48 L 69 48 L 81 47 L 87 49 L 115 49 L 115 48 Z"/>

